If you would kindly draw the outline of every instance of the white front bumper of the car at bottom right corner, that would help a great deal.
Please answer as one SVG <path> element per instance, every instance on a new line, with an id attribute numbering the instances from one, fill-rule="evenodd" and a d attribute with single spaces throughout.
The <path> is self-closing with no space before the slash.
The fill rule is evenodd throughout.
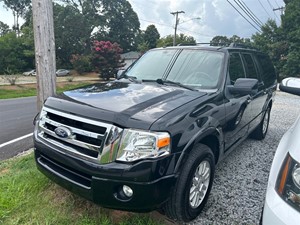
<path id="1" fill-rule="evenodd" d="M 273 187 L 267 189 L 262 225 L 299 224 L 300 213 L 283 201 Z"/>

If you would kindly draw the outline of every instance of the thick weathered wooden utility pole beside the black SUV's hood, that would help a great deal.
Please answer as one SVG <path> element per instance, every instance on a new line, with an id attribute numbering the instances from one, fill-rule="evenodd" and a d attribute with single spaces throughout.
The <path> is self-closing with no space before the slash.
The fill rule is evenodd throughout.
<path id="1" fill-rule="evenodd" d="M 32 0 L 37 107 L 56 93 L 55 39 L 52 0 Z"/>

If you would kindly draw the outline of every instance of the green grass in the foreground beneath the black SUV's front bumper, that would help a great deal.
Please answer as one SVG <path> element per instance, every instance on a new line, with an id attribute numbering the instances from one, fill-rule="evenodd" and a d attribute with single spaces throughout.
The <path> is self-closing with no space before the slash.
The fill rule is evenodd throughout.
<path id="1" fill-rule="evenodd" d="M 0 189 L 0 224 L 164 224 L 155 213 L 103 209 L 66 191 L 36 169 L 33 153 L 0 161 Z"/>

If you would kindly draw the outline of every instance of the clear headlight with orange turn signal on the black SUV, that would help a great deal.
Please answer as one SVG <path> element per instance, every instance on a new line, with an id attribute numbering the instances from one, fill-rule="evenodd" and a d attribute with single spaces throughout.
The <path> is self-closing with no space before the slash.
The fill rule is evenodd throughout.
<path id="1" fill-rule="evenodd" d="M 170 153 L 170 143 L 170 135 L 166 132 L 125 129 L 117 160 L 132 162 L 167 155 Z"/>

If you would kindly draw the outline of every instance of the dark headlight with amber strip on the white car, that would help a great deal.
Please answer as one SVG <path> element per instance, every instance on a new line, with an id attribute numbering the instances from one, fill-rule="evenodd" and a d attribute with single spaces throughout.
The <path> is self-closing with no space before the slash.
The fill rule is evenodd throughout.
<path id="1" fill-rule="evenodd" d="M 276 190 L 280 197 L 300 211 L 300 163 L 286 157 L 277 178 Z"/>

